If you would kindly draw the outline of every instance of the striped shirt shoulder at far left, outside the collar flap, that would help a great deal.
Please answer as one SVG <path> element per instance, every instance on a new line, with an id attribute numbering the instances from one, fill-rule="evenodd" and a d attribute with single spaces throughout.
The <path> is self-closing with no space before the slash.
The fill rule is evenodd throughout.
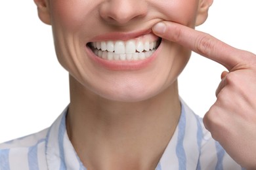
<path id="1" fill-rule="evenodd" d="M 0 169 L 28 169 L 30 163 L 45 161 L 49 129 L 0 144 Z"/>

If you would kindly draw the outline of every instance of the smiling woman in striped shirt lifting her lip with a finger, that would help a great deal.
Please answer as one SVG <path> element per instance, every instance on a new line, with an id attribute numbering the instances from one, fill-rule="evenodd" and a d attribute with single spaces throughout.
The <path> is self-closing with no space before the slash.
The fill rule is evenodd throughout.
<path id="1" fill-rule="evenodd" d="M 2 169 L 255 167 L 255 56 L 194 31 L 212 0 L 35 3 L 70 73 L 70 105 L 49 129 L 2 144 Z M 179 98 L 191 50 L 230 71 L 204 123 L 235 161 Z"/>

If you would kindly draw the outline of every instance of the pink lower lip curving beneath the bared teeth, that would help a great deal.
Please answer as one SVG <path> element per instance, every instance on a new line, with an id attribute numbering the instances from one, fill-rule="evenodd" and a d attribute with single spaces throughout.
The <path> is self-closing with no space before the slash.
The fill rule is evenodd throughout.
<path id="1" fill-rule="evenodd" d="M 145 67 L 148 67 L 150 63 L 152 63 L 156 57 L 158 56 L 158 52 L 161 48 L 161 43 L 156 49 L 156 51 L 152 54 L 152 56 L 142 59 L 142 60 L 132 60 L 132 61 L 116 61 L 116 60 L 106 60 L 99 58 L 95 55 L 95 53 L 89 48 L 89 46 L 86 46 L 87 54 L 89 54 L 89 58 L 91 58 L 95 63 L 101 65 L 102 67 L 105 67 L 106 69 L 115 70 L 115 71 L 125 71 L 125 70 L 139 70 L 143 69 Z"/>

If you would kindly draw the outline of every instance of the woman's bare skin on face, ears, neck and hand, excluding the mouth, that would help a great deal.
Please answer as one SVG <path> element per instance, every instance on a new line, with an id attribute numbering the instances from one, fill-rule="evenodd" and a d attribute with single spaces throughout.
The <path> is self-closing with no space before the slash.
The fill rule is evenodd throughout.
<path id="1" fill-rule="evenodd" d="M 156 167 L 179 121 L 177 77 L 190 50 L 230 71 L 223 73 L 204 123 L 234 160 L 255 167 L 255 55 L 194 31 L 212 0 L 34 1 L 39 18 L 52 25 L 58 60 L 70 73 L 67 131 L 87 168 Z M 153 29 L 163 37 L 160 57 L 142 69 L 108 70 L 84 50 L 97 35 L 150 29 L 163 20 L 171 22 Z"/>

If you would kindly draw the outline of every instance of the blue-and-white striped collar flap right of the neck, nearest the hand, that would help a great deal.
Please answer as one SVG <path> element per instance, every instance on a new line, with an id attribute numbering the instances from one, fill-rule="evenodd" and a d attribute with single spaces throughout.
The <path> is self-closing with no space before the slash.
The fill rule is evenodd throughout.
<path id="1" fill-rule="evenodd" d="M 157 170 L 197 169 L 202 143 L 202 120 L 181 99 L 181 117 Z"/>

